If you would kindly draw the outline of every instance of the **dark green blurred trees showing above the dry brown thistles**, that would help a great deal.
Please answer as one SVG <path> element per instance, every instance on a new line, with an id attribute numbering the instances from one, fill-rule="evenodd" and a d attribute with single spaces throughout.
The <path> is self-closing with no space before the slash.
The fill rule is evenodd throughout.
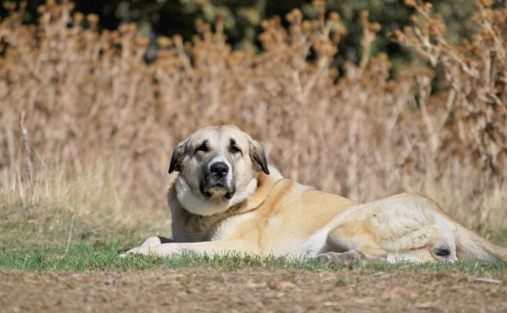
<path id="1" fill-rule="evenodd" d="M 4 0 L 0 0 L 0 3 L 2 2 Z M 98 15 L 99 26 L 102 29 L 117 29 L 121 24 L 131 22 L 138 24 L 144 35 L 151 39 L 151 49 L 148 49 L 146 54 L 148 61 L 155 57 L 157 36 L 180 34 L 184 40 L 192 40 L 192 35 L 196 33 L 197 22 L 213 23 L 217 19 L 224 21 L 227 40 L 235 49 L 259 51 L 262 49 L 258 41 L 258 34 L 262 30 L 260 22 L 274 16 L 284 17 L 293 8 L 301 8 L 306 17 L 316 17 L 320 3 L 325 4 L 326 10 L 338 12 L 347 29 L 346 35 L 338 45 L 341 51 L 335 61 L 338 67 L 341 67 L 345 60 L 356 63 L 359 61 L 361 10 L 369 12 L 370 22 L 382 25 L 370 54 L 386 52 L 395 72 L 400 64 L 411 58 L 407 49 L 389 40 L 389 34 L 409 24 L 409 17 L 414 13 L 412 8 L 405 6 L 403 0 L 76 0 L 74 2 L 77 11 Z M 449 40 L 458 42 L 459 38 L 471 33 L 472 26 L 468 22 L 468 17 L 476 10 L 473 1 L 429 2 L 446 22 Z M 496 2 L 501 6 L 503 1 Z M 37 22 L 37 8 L 44 3 L 45 0 L 28 1 L 24 22 Z M 7 11 L 0 6 L 0 17 L 6 15 Z M 282 20 L 286 23 L 284 19 Z"/>

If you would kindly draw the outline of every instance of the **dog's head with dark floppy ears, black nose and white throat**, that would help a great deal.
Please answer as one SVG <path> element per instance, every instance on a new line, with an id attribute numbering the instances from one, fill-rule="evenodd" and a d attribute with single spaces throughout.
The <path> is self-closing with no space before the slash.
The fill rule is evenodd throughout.
<path id="1" fill-rule="evenodd" d="M 174 148 L 169 173 L 178 171 L 182 207 L 199 215 L 226 211 L 257 186 L 257 172 L 270 171 L 263 146 L 232 125 L 198 129 Z"/>

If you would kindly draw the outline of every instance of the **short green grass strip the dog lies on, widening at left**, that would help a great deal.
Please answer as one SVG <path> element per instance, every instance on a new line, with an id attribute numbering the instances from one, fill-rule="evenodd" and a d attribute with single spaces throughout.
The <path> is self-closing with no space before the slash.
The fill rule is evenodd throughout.
<path id="1" fill-rule="evenodd" d="M 1 207 L 1 206 L 0 206 Z M 167 235 L 168 227 L 153 227 L 149 218 L 137 220 L 137 227 L 114 223 L 104 212 L 100 216 L 76 215 L 54 207 L 3 207 L 0 210 L 0 268 L 26 271 L 129 271 L 185 267 L 235 270 L 245 268 L 283 268 L 295 271 L 338 271 L 344 266 L 303 261 L 286 257 L 258 257 L 231 253 L 220 256 L 198 256 L 185 253 L 172 257 L 118 257 L 119 250 L 139 246 L 153 234 Z M 112 213 L 111 213 L 112 214 Z M 74 216 L 74 217 L 72 217 Z M 158 219 L 159 220 L 159 219 Z M 141 225 L 139 225 L 141 224 Z M 151 227 L 150 227 L 151 225 Z M 491 239 L 507 242 L 507 231 Z M 367 271 L 466 271 L 498 273 L 507 271 L 499 263 L 466 262 L 455 264 L 358 264 L 354 270 Z"/>

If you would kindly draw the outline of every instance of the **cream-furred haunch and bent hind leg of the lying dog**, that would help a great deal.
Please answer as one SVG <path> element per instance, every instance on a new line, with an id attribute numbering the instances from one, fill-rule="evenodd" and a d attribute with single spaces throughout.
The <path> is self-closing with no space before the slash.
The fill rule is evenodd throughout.
<path id="1" fill-rule="evenodd" d="M 353 207 L 330 228 L 322 252 L 350 255 L 334 255 L 336 262 L 352 256 L 366 261 L 454 262 L 456 225 L 432 203 L 421 195 L 404 194 Z"/>

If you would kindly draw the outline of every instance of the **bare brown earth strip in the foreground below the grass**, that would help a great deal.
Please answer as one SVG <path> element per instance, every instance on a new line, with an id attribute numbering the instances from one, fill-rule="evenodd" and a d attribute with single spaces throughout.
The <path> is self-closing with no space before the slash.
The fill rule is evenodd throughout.
<path id="1" fill-rule="evenodd" d="M 0 270 L 0 312 L 507 312 L 507 273 Z"/>

